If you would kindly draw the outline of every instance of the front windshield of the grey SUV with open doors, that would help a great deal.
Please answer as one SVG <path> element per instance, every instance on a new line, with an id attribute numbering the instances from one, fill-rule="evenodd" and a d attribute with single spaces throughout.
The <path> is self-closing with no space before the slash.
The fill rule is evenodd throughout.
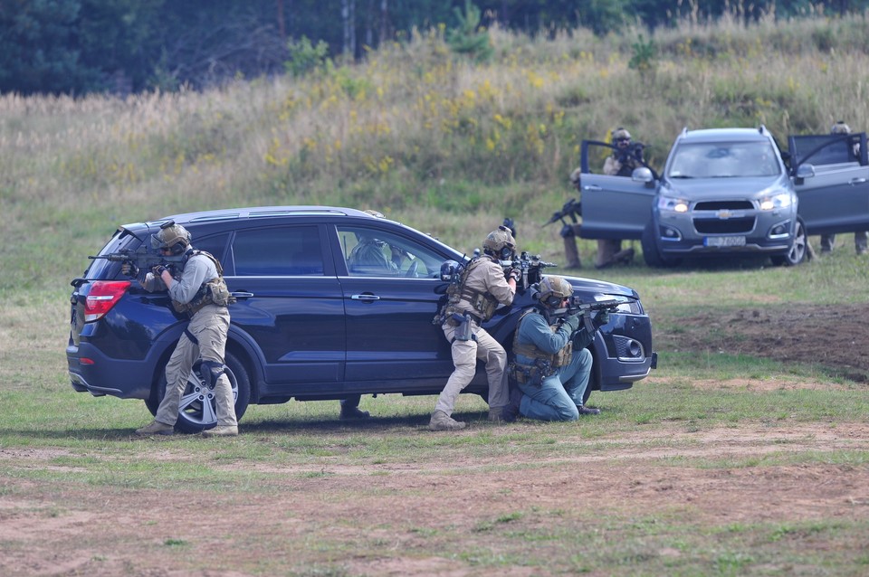
<path id="1" fill-rule="evenodd" d="M 776 152 L 769 142 L 680 144 L 673 153 L 670 178 L 778 176 Z"/>

